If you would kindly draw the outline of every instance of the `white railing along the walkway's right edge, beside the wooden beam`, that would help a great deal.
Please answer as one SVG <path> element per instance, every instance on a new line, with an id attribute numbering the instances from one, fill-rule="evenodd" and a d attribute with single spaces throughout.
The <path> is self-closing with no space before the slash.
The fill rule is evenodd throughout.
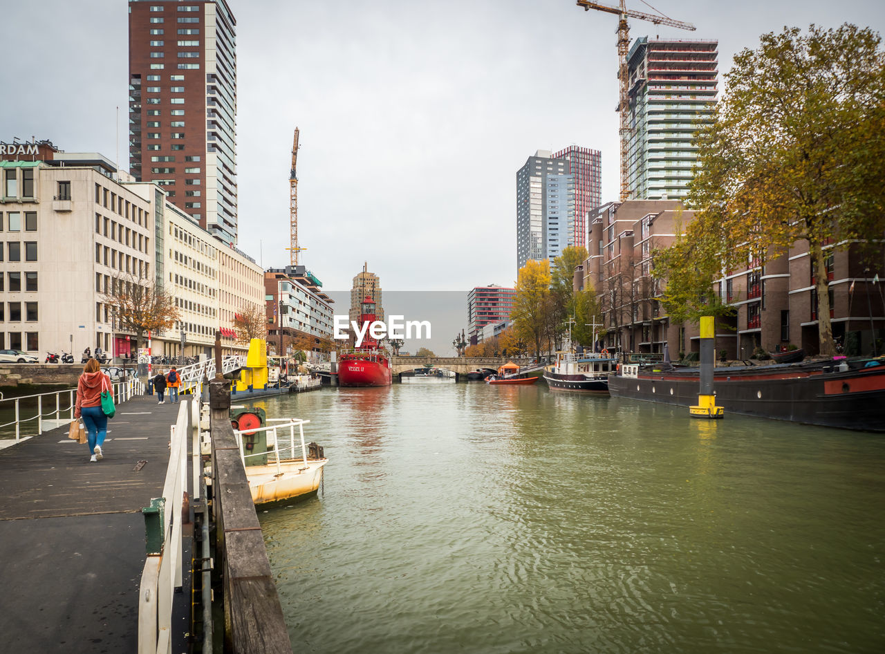
<path id="1" fill-rule="evenodd" d="M 197 384 L 193 398 L 181 403 L 178 419 L 170 427 L 163 495 L 151 500 L 150 510 L 144 511 L 148 557 L 138 595 L 138 654 L 172 651 L 173 596 L 181 588 L 181 510 L 188 489 L 188 440 L 198 438 L 200 390 Z M 199 446 L 193 465 L 199 468 Z M 151 517 L 152 512 L 158 512 L 158 519 Z"/>

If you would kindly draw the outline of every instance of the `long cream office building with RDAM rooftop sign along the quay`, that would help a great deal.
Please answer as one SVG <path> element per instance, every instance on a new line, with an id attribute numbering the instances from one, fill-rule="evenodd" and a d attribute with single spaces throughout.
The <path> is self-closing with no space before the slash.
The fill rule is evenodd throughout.
<path id="1" fill-rule="evenodd" d="M 261 266 L 168 203 L 164 187 L 135 181 L 98 153 L 44 141 L 10 154 L 4 145 L 0 349 L 135 355 L 135 332 L 106 296 L 115 282 L 141 280 L 174 296 L 179 312 L 173 327 L 151 335 L 152 354 L 212 355 L 219 328 L 223 353 L 245 350 L 230 327 L 235 312 L 264 304 Z"/>

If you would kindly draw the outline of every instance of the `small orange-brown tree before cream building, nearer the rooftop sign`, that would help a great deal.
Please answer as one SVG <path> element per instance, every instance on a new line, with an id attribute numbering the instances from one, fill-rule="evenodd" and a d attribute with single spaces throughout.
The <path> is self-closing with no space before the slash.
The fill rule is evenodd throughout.
<path id="1" fill-rule="evenodd" d="M 149 332 L 164 332 L 180 317 L 172 294 L 142 274 L 115 274 L 102 302 L 111 310 L 119 329 L 135 332 L 136 349 Z"/>

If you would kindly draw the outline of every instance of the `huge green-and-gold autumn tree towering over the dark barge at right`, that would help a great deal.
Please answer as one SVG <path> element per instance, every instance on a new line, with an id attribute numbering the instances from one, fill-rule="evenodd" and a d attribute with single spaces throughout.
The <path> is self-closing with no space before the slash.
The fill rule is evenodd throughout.
<path id="1" fill-rule="evenodd" d="M 735 56 L 727 94 L 698 135 L 689 186 L 696 220 L 666 266 L 671 298 L 682 275 L 764 265 L 808 243 L 821 354 L 835 354 L 827 256 L 885 235 L 885 54 L 869 28 L 785 28 Z M 881 241 L 877 247 L 881 250 Z M 698 261 L 698 257 L 709 258 Z"/>

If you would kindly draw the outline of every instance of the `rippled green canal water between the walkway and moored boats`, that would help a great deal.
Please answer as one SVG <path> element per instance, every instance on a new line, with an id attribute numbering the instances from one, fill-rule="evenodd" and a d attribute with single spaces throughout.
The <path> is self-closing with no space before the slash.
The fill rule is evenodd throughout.
<path id="1" fill-rule="evenodd" d="M 264 403 L 323 492 L 259 509 L 298 652 L 881 652 L 885 439 L 543 385 Z"/>

